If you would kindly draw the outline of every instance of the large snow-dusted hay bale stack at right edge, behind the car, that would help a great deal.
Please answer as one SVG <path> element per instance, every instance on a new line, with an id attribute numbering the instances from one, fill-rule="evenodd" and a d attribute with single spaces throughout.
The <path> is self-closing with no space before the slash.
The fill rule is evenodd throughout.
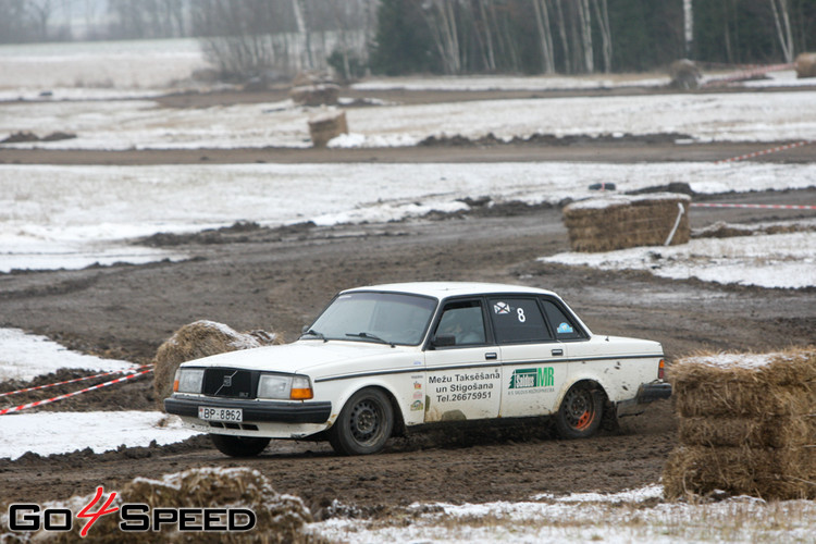
<path id="1" fill-rule="evenodd" d="M 671 375 L 680 446 L 667 498 L 816 498 L 816 347 L 689 357 Z"/>

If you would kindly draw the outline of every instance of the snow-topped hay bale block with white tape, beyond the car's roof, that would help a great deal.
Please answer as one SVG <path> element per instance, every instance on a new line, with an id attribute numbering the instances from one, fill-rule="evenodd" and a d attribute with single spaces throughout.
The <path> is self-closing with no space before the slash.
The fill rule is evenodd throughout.
<path id="1" fill-rule="evenodd" d="M 592 198 L 567 206 L 564 223 L 573 251 L 662 246 L 669 237 L 671 245 L 685 244 L 689 205 L 689 196 L 673 193 Z"/>

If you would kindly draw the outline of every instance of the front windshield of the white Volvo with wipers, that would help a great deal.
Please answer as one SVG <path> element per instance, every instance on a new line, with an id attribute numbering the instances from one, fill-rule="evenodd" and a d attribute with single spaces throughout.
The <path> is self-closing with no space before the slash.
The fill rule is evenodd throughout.
<path id="1" fill-rule="evenodd" d="M 436 300 L 397 293 L 345 293 L 312 323 L 306 336 L 416 346 L 424 337 Z"/>

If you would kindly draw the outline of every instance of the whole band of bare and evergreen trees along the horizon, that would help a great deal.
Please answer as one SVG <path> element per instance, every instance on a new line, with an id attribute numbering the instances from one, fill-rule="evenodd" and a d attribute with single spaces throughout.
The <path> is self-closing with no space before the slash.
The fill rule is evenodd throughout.
<path id="1" fill-rule="evenodd" d="M 193 37 L 226 75 L 579 74 L 792 62 L 816 0 L 0 0 L 0 42 Z"/>

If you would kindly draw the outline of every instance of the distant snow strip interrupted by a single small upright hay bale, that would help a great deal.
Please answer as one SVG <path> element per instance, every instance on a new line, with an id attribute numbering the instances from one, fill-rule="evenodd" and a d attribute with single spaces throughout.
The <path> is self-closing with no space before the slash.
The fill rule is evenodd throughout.
<path id="1" fill-rule="evenodd" d="M 816 139 L 816 91 L 652 95 L 386 104 L 346 109 L 335 147 L 413 146 L 430 137 L 678 133 L 683 141 Z M 76 138 L 5 144 L 48 149 L 310 147 L 320 108 L 275 103 L 165 109 L 150 100 L 0 102 L 0 140 L 29 131 Z"/>

